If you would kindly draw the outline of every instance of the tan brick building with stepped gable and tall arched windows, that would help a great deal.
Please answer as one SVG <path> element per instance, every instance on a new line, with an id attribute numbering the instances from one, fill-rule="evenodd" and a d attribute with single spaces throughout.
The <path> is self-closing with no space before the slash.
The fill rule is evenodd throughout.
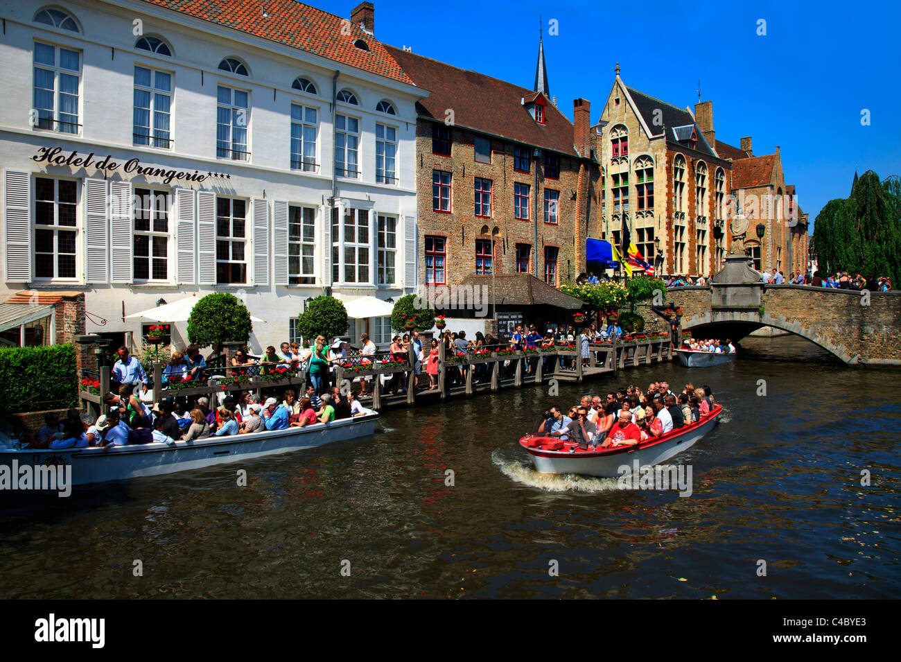
<path id="1" fill-rule="evenodd" d="M 713 104 L 692 112 L 626 86 L 616 67 L 593 128 L 603 167 L 594 236 L 622 241 L 623 222 L 658 273 L 715 273 L 729 250 L 732 164 L 714 150 Z"/>

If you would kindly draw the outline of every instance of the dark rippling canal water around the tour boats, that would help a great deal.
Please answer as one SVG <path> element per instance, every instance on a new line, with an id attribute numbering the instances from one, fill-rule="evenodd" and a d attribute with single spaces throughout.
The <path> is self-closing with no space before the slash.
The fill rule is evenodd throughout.
<path id="1" fill-rule="evenodd" d="M 525 387 L 390 411 L 369 440 L 278 458 L 0 494 L 0 597 L 896 597 L 898 373 L 795 337 L 742 350 L 553 398 Z M 676 458 L 690 497 L 538 475 L 517 448 L 553 402 L 664 378 L 724 405 Z"/>

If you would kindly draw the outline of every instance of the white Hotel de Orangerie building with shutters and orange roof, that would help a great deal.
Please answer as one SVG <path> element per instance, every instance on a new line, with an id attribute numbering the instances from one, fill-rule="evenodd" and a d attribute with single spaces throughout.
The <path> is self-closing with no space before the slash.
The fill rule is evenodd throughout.
<path id="1" fill-rule="evenodd" d="M 224 290 L 266 321 L 259 350 L 295 337 L 308 297 L 414 291 L 427 93 L 375 40 L 372 5 L 352 23 L 293 0 L 0 0 L 0 15 L 0 301 L 83 291 L 87 332 L 138 344 L 125 315 Z M 389 341 L 387 318 L 348 335 L 367 328 Z"/>

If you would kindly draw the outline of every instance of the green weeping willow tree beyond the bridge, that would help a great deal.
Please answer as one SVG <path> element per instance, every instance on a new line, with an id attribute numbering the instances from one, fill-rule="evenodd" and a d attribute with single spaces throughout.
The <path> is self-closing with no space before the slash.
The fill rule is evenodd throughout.
<path id="1" fill-rule="evenodd" d="M 901 183 L 880 182 L 868 170 L 851 197 L 831 200 L 816 215 L 814 249 L 824 274 L 860 273 L 869 284 L 887 276 L 901 283 Z"/>

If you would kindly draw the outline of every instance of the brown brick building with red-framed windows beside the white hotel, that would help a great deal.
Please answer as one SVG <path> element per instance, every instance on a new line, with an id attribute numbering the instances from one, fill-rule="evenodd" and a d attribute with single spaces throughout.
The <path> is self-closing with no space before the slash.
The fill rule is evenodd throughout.
<path id="1" fill-rule="evenodd" d="M 417 86 L 419 283 L 457 285 L 474 274 L 528 273 L 552 286 L 585 265 L 599 168 L 589 104 L 575 123 L 549 95 L 543 44 L 534 89 L 388 47 Z M 407 257 L 409 259 L 409 256 Z"/>

